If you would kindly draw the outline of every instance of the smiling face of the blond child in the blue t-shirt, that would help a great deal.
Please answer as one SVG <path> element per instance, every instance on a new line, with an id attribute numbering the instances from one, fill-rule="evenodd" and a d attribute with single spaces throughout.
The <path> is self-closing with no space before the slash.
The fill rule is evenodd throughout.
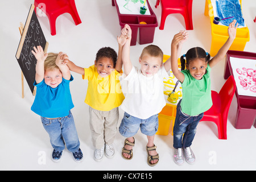
<path id="1" fill-rule="evenodd" d="M 56 88 L 62 81 L 62 73 L 60 69 L 46 70 L 44 73 L 44 82 L 51 88 Z"/>

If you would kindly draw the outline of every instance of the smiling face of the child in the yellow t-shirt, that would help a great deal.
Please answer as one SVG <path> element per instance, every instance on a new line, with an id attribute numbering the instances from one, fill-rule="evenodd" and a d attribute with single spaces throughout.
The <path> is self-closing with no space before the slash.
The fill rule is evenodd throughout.
<path id="1" fill-rule="evenodd" d="M 114 70 L 114 64 L 111 58 L 101 57 L 97 63 L 94 61 L 94 65 L 97 68 L 98 75 L 101 77 L 107 77 Z"/>

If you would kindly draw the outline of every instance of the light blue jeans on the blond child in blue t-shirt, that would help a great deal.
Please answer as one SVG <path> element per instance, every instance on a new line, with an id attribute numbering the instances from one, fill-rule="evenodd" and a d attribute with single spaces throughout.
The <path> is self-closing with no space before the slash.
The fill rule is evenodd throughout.
<path id="1" fill-rule="evenodd" d="M 44 129 L 49 134 L 52 147 L 56 151 L 63 151 L 65 143 L 71 152 L 79 150 L 80 142 L 76 131 L 73 115 L 71 111 L 65 117 L 57 119 L 47 119 L 41 117 Z M 64 142 L 65 141 L 65 142 Z"/>

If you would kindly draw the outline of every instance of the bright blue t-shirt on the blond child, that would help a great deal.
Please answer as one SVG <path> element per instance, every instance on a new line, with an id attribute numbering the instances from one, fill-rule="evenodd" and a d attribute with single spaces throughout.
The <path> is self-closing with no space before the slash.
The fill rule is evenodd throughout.
<path id="1" fill-rule="evenodd" d="M 74 107 L 69 89 L 69 82 L 73 79 L 73 76 L 71 76 L 70 80 L 62 78 L 62 82 L 56 88 L 46 85 L 44 80 L 39 84 L 34 82 L 36 96 L 31 110 L 46 118 L 67 116 L 69 110 Z"/>

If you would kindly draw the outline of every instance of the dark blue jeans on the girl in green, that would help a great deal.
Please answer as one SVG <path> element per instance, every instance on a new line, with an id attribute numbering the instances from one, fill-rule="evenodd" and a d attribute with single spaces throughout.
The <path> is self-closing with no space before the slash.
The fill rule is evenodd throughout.
<path id="1" fill-rule="evenodd" d="M 174 124 L 174 148 L 186 148 L 191 146 L 196 135 L 196 126 L 204 116 L 204 113 L 195 116 L 182 113 L 180 102 L 181 100 L 177 104 Z"/>

